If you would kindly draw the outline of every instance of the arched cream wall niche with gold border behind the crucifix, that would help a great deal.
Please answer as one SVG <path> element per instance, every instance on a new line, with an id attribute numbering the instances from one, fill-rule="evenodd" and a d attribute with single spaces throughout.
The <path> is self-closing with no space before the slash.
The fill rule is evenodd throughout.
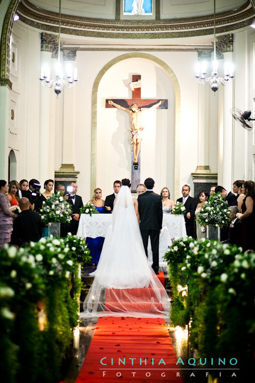
<path id="1" fill-rule="evenodd" d="M 135 66 L 135 63 L 137 64 Z M 129 65 L 130 64 L 130 65 Z M 96 183 L 98 182 L 98 171 L 99 171 L 99 165 L 105 166 L 107 162 L 107 158 L 111 153 L 111 150 L 116 151 L 116 163 L 119 163 L 120 158 L 124 158 L 124 161 L 126 162 L 123 165 L 123 171 L 120 172 L 120 174 L 116 174 L 116 177 L 126 177 L 128 175 L 128 172 L 131 171 L 131 164 L 129 164 L 128 160 L 128 150 L 127 150 L 127 137 L 128 137 L 128 129 L 129 129 L 129 117 L 125 112 L 122 114 L 119 113 L 117 117 L 117 122 L 119 128 L 115 130 L 111 130 L 112 122 L 116 123 L 116 114 L 114 115 L 113 109 L 107 109 L 107 112 L 105 111 L 105 98 L 130 98 L 130 91 L 128 93 L 128 82 L 129 77 L 131 74 L 137 74 L 140 73 L 141 65 L 144 66 L 151 66 L 151 76 L 152 76 L 152 91 L 154 90 L 153 94 L 144 95 L 142 94 L 142 97 L 144 98 L 167 98 L 170 99 L 171 102 L 169 103 L 168 109 L 168 115 L 165 116 L 163 124 L 166 129 L 169 128 L 170 125 L 172 125 L 172 132 L 171 132 L 171 142 L 168 139 L 168 143 L 170 143 L 170 147 L 167 150 L 167 142 L 165 141 L 163 144 L 165 145 L 165 165 L 166 165 L 166 173 L 169 175 L 171 172 L 171 189 L 172 194 L 177 195 L 179 193 L 179 124 L 180 124 L 180 88 L 177 81 L 177 78 L 175 74 L 173 73 L 172 69 L 162 60 L 159 58 L 145 53 L 129 53 L 121 55 L 112 61 L 108 62 L 99 72 L 98 76 L 96 77 L 96 80 L 94 82 L 93 86 L 93 93 L 92 93 L 92 133 L 91 133 L 91 192 L 93 191 L 94 187 L 96 186 Z M 120 72 L 119 72 L 120 71 Z M 120 73 L 122 73 L 122 77 L 120 76 Z M 118 75 L 118 80 L 116 79 L 116 76 Z M 142 75 L 144 78 L 144 75 Z M 107 79 L 108 78 L 108 79 Z M 109 83 L 109 79 L 112 78 L 112 86 L 108 87 L 108 92 L 105 91 L 105 87 L 107 82 Z M 147 81 L 149 81 L 150 73 L 147 71 Z M 167 86 L 164 84 L 164 78 L 165 82 L 169 82 L 169 91 L 163 94 L 161 91 L 164 88 L 164 86 Z M 156 79 L 156 81 L 155 81 Z M 117 87 L 114 86 L 113 83 L 119 82 L 119 86 L 121 86 L 123 93 L 120 94 L 120 92 L 117 94 L 116 89 Z M 153 87 L 157 89 L 153 89 Z M 171 89 L 170 89 L 171 88 Z M 126 94 L 125 94 L 126 92 Z M 171 95 L 169 95 L 171 93 Z M 120 111 L 122 112 L 122 111 Z M 154 111 L 155 112 L 155 111 Z M 162 112 L 165 111 L 157 111 L 158 115 L 160 115 Z M 105 113 L 107 113 L 109 116 L 106 116 Z M 115 112 L 116 113 L 116 112 Z M 151 112 L 149 112 L 151 113 Z M 153 113 L 153 112 L 152 112 Z M 170 115 L 171 113 L 171 115 Z M 111 116 L 111 117 L 110 117 Z M 169 119 L 170 116 L 170 119 Z M 155 116 L 153 116 L 155 118 Z M 161 117 L 160 117 L 161 118 Z M 170 121 L 172 118 L 172 121 Z M 102 123 L 104 123 L 105 129 L 107 130 L 107 127 L 109 129 L 109 134 L 111 135 L 111 143 L 106 140 L 104 141 L 104 138 L 100 136 L 100 133 L 102 133 Z M 123 128 L 123 125 L 125 127 Z M 160 126 L 158 123 L 158 130 Z M 121 129 L 124 129 L 121 133 Z M 145 129 L 144 129 L 145 130 Z M 148 129 L 149 132 L 150 129 Z M 162 134 L 164 134 L 162 128 Z M 153 133 L 154 134 L 154 133 Z M 153 145 L 162 145 L 162 137 L 163 135 L 159 134 L 155 135 L 156 143 L 153 143 Z M 115 137 L 114 137 L 115 135 Z M 117 141 L 122 137 L 123 141 L 119 145 L 119 148 L 117 147 Z M 104 164 L 101 164 L 101 158 L 102 153 L 100 153 L 100 158 L 98 157 L 98 143 L 103 142 L 103 145 L 105 145 L 105 153 L 104 158 L 105 162 Z M 145 142 L 144 140 L 143 142 Z M 161 143 L 160 143 L 161 141 Z M 164 141 L 164 140 L 163 140 Z M 152 144 L 152 142 L 151 142 Z M 102 147 L 101 147 L 102 148 Z M 143 149 L 142 149 L 143 150 Z M 107 152 L 108 151 L 108 152 Z M 119 153 L 118 153 L 119 151 Z M 121 156 L 122 153 L 122 156 Z M 154 153 L 155 154 L 155 153 Z M 159 155 L 162 155 L 160 153 Z M 158 159 L 156 158 L 155 161 Z M 168 163 L 167 163 L 168 162 Z M 161 164 L 163 162 L 161 161 Z M 107 166 L 111 164 L 111 159 L 108 161 Z M 113 164 L 115 166 L 115 164 Z M 142 163 L 141 163 L 142 166 Z M 162 171 L 160 169 L 161 166 L 159 166 L 159 171 Z M 169 170 L 170 169 L 170 170 Z M 125 173 L 126 170 L 126 173 Z M 101 171 L 101 170 L 100 170 Z M 117 171 L 120 171 L 120 168 L 117 166 Z M 142 171 L 141 171 L 142 173 Z M 154 170 L 155 173 L 155 170 Z M 152 175 L 147 175 L 147 177 L 150 177 Z M 141 174 L 141 178 L 142 178 Z M 99 179 L 101 182 L 101 180 Z M 142 181 L 142 179 L 141 179 Z M 167 181 L 167 177 L 166 177 Z M 101 184 L 100 184 L 101 185 Z M 165 185 L 163 185 L 165 186 Z M 159 185 L 158 185 L 159 187 Z M 174 197 L 172 195 L 172 197 Z"/>

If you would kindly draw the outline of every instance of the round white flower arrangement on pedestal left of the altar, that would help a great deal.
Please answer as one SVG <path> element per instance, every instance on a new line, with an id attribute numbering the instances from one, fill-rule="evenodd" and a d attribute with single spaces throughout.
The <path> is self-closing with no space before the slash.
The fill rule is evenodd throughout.
<path id="1" fill-rule="evenodd" d="M 63 199 L 60 192 L 43 201 L 41 213 L 42 221 L 45 223 L 70 222 L 72 217 L 70 204 Z"/>

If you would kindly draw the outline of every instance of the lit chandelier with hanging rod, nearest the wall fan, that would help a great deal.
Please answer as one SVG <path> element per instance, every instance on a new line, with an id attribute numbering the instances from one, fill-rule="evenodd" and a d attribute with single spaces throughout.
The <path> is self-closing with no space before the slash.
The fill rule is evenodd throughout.
<path id="1" fill-rule="evenodd" d="M 199 84 L 207 85 L 209 84 L 211 86 L 211 90 L 213 92 L 216 92 L 218 90 L 218 86 L 220 84 L 227 85 L 232 82 L 232 79 L 234 77 L 233 75 L 233 65 L 225 64 L 224 67 L 224 78 L 218 77 L 217 72 L 217 60 L 216 60 L 216 38 L 215 38 L 215 0 L 214 0 L 214 14 L 213 14 L 213 53 L 214 53 L 214 59 L 212 61 L 212 73 L 210 77 L 206 77 L 206 61 L 202 62 L 201 65 L 201 74 L 200 74 L 200 65 L 198 65 L 197 68 L 197 75 L 196 78 L 199 82 Z"/>

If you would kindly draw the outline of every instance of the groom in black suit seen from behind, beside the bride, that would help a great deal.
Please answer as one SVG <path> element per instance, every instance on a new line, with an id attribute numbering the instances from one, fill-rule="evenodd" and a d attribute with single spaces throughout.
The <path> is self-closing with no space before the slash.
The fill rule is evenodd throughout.
<path id="1" fill-rule="evenodd" d="M 154 180 L 147 178 L 144 181 L 147 188 L 145 193 L 138 195 L 138 211 L 140 215 L 140 232 L 145 254 L 148 257 L 148 240 L 152 245 L 152 268 L 156 274 L 159 271 L 159 234 L 162 229 L 162 202 L 159 194 L 153 192 Z"/>

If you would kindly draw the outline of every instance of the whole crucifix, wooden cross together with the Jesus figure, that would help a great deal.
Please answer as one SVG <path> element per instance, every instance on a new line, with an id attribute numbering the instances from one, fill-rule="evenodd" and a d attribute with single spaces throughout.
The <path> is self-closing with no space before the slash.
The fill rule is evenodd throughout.
<path id="1" fill-rule="evenodd" d="M 136 191 L 140 183 L 140 142 L 139 132 L 143 129 L 141 116 L 149 109 L 167 109 L 166 99 L 142 99 L 141 98 L 141 75 L 132 76 L 132 98 L 131 99 L 106 99 L 105 108 L 117 108 L 127 112 L 130 117 L 130 144 L 132 151 L 132 176 L 131 190 Z M 142 108 L 142 110 L 140 109 Z"/>

